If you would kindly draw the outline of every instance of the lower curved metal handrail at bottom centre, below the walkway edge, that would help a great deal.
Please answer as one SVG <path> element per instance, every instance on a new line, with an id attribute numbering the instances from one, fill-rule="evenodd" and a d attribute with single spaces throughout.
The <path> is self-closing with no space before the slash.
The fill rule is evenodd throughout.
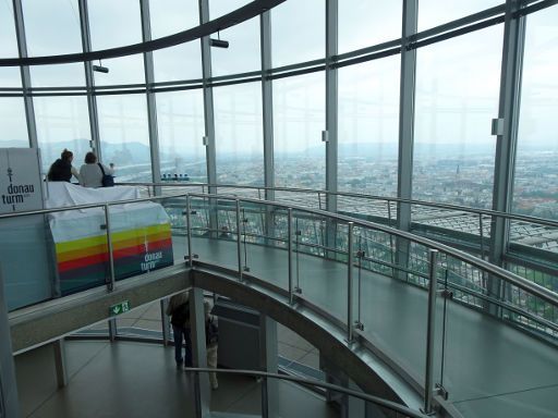
<path id="1" fill-rule="evenodd" d="M 387 401 L 378 396 L 368 395 L 366 393 L 362 393 L 359 391 L 353 391 L 351 389 L 347 389 L 343 386 L 339 386 L 337 384 L 332 383 L 326 383 L 322 382 L 319 380 L 315 379 L 305 379 L 305 378 L 299 378 L 294 376 L 288 376 L 288 374 L 279 374 L 279 373 L 270 373 L 267 371 L 259 371 L 259 370 L 242 370 L 242 369 L 211 369 L 207 367 L 186 367 L 184 368 L 186 372 L 202 372 L 202 373 L 221 373 L 221 374 L 242 374 L 242 376 L 253 376 L 257 378 L 265 378 L 265 379 L 278 379 L 278 380 L 286 380 L 289 382 L 300 383 L 300 384 L 307 384 L 312 386 L 318 386 L 323 389 L 328 389 L 331 391 L 336 391 L 345 395 L 357 397 L 365 402 L 371 402 L 375 405 L 388 408 L 390 410 L 393 410 L 396 413 L 400 413 L 405 415 L 407 417 L 411 418 L 425 418 L 426 415 L 422 414 L 418 410 L 411 409 L 407 406 L 397 404 L 392 401 Z"/>

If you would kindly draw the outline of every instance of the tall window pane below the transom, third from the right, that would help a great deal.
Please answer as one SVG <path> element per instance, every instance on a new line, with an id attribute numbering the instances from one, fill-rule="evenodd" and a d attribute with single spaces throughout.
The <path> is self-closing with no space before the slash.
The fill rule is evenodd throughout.
<path id="1" fill-rule="evenodd" d="M 397 195 L 399 56 L 339 70 L 339 190 Z"/>

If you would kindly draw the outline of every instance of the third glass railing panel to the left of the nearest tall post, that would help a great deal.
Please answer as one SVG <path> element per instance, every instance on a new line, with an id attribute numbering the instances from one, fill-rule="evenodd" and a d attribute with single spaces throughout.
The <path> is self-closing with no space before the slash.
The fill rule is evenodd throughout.
<path id="1" fill-rule="evenodd" d="M 246 204 L 241 218 L 243 271 L 288 291 L 288 210 L 274 205 Z"/>

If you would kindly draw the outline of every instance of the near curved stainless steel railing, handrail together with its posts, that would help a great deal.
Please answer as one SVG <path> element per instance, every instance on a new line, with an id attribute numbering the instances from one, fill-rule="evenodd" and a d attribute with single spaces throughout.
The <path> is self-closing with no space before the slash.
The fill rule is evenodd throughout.
<path id="1" fill-rule="evenodd" d="M 245 265 L 242 263 L 242 246 L 241 246 L 241 239 L 242 235 L 245 234 L 245 231 L 241 230 L 241 223 L 244 221 L 241 219 L 241 216 L 244 217 L 244 214 L 241 214 L 241 205 L 248 206 L 251 208 L 259 208 L 262 211 L 266 211 L 267 208 L 272 207 L 274 209 L 280 209 L 283 211 L 283 213 L 287 213 L 288 219 L 288 259 L 289 259 L 289 274 L 288 274 L 288 292 L 289 292 L 289 300 L 292 303 L 300 296 L 296 293 L 296 286 L 294 283 L 294 274 L 292 273 L 292 267 L 294 265 L 294 257 L 292 249 L 292 243 L 294 241 L 294 234 L 292 231 L 292 224 L 293 224 L 293 211 L 296 211 L 298 213 L 304 213 L 306 217 L 315 217 L 319 219 L 320 221 L 326 221 L 330 223 L 335 223 L 336 225 L 347 225 L 347 250 L 344 251 L 345 258 L 342 260 L 344 263 L 347 263 L 348 270 L 347 270 L 347 276 L 348 276 L 348 316 L 347 316 L 347 322 L 344 324 L 344 328 L 347 330 L 347 340 L 349 343 L 353 341 L 354 336 L 354 327 L 355 323 L 353 321 L 353 315 L 352 309 L 354 306 L 354 300 L 352 299 L 352 287 L 353 287 L 353 269 L 354 269 L 354 249 L 353 249 L 353 238 L 354 238 L 354 230 L 356 228 L 363 229 L 365 231 L 375 231 L 380 232 L 384 234 L 387 234 L 388 236 L 393 236 L 396 241 L 407 241 L 409 243 L 413 243 L 415 245 L 421 245 L 427 250 L 429 254 L 429 262 L 424 265 L 424 268 L 426 269 L 425 273 L 428 276 L 428 281 L 430 283 L 430 292 L 428 294 L 428 305 L 433 306 L 435 305 L 435 298 L 437 296 L 437 286 L 435 285 L 435 279 L 437 278 L 437 269 L 442 267 L 441 266 L 441 256 L 445 256 L 446 258 L 456 259 L 459 261 L 462 261 L 470 266 L 471 268 L 477 269 L 483 274 L 487 274 L 492 278 L 496 278 L 502 283 L 506 283 L 508 285 L 513 285 L 518 288 L 523 290 L 529 295 L 539 298 L 544 303 L 548 304 L 553 308 L 558 307 L 558 295 L 545 287 L 538 286 L 532 282 L 530 282 L 526 279 L 523 279 L 519 275 L 515 275 L 513 273 L 510 273 L 497 266 L 494 266 L 483 259 L 473 257 L 464 251 L 457 250 L 454 248 L 451 248 L 449 246 L 446 246 L 444 244 L 436 243 L 434 241 L 430 241 L 428 238 L 424 238 L 417 235 L 414 235 L 409 232 L 399 231 L 396 229 L 392 229 L 390 226 L 386 226 L 383 224 L 377 224 L 368 221 L 363 221 L 359 219 L 354 219 L 348 216 L 341 216 L 341 214 L 335 214 L 331 212 L 327 212 L 324 210 L 317 210 L 317 209 L 310 209 L 305 207 L 299 207 L 293 205 L 284 205 L 276 201 L 265 201 L 260 199 L 251 199 L 251 198 L 236 198 L 233 196 L 228 195 L 208 195 L 208 194 L 177 194 L 171 196 L 157 196 L 157 197 L 150 197 L 150 198 L 140 198 L 140 199 L 129 199 L 129 200 L 122 200 L 122 201 L 116 201 L 110 204 L 95 204 L 95 205 L 83 205 L 83 206 L 76 206 L 76 207 L 65 207 L 65 208 L 56 208 L 56 209 L 44 209 L 44 210 L 34 210 L 28 212 L 20 212 L 20 213 L 8 213 L 8 214 L 1 214 L 0 219 L 9 219 L 9 218 L 20 218 L 31 214 L 47 214 L 52 212 L 60 212 L 60 211 L 68 211 L 68 210 L 80 210 L 80 209 L 90 209 L 90 208 L 102 208 L 105 211 L 106 218 L 109 217 L 109 210 L 112 206 L 120 206 L 125 204 L 133 204 L 133 202 L 142 202 L 142 201 L 151 201 L 151 200 L 168 200 L 171 199 L 173 201 L 184 199 L 183 205 L 181 206 L 185 210 L 185 213 L 182 213 L 186 218 L 186 243 L 187 243 L 187 251 L 189 251 L 189 265 L 193 265 L 194 254 L 193 254 L 193 225 L 192 225 L 192 202 L 197 200 L 197 206 L 199 206 L 199 201 L 207 202 L 207 209 L 208 211 L 218 211 L 220 202 L 229 201 L 230 205 L 227 207 L 228 211 L 231 211 L 234 213 L 235 218 L 235 225 L 236 230 L 231 231 L 231 234 L 236 235 L 236 256 L 238 256 L 238 266 L 236 266 L 236 273 L 240 281 L 243 279 Z M 208 217 L 210 218 L 210 217 Z M 107 243 L 109 251 L 111 253 L 111 231 L 110 231 L 110 222 L 107 223 Z M 325 251 L 327 254 L 327 250 Z M 296 251 L 298 255 L 298 251 Z M 435 257 L 437 255 L 437 257 Z M 113 272 L 113 259 L 110 258 L 109 262 L 111 265 L 111 271 Z M 447 260 L 446 260 L 447 262 Z M 395 266 L 397 268 L 397 266 Z M 447 268 L 447 266 L 446 266 Z M 420 273 L 420 271 L 417 270 Z M 110 282 L 107 283 L 107 291 L 111 292 L 114 287 L 114 281 L 112 278 L 113 274 L 111 274 Z M 360 308 L 360 307 L 359 307 Z M 534 318 L 536 319 L 536 318 Z M 428 331 L 427 331 L 427 341 L 434 341 L 435 339 L 435 327 L 434 327 L 434 315 L 430 315 L 428 317 Z M 543 321 L 542 321 L 543 322 Z M 551 324 L 551 323 L 550 323 Z M 556 325 L 556 324 L 554 324 Z M 556 329 L 556 327 L 555 327 Z M 361 334 L 362 335 L 362 334 Z M 428 344 L 426 349 L 426 356 L 428 365 L 425 370 L 425 384 L 424 384 L 424 398 L 425 398 L 425 411 L 432 411 L 433 404 L 432 404 L 432 395 L 434 388 L 432 388 L 433 380 L 433 356 L 434 356 L 434 349 L 432 347 L 432 344 Z"/>

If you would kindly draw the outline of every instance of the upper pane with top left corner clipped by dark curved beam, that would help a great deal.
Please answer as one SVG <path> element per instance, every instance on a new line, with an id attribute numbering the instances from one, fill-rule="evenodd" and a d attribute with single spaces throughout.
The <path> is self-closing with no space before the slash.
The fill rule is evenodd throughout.
<path id="1" fill-rule="evenodd" d="M 271 10 L 272 65 L 282 66 L 326 54 L 325 0 L 286 1 Z"/>

